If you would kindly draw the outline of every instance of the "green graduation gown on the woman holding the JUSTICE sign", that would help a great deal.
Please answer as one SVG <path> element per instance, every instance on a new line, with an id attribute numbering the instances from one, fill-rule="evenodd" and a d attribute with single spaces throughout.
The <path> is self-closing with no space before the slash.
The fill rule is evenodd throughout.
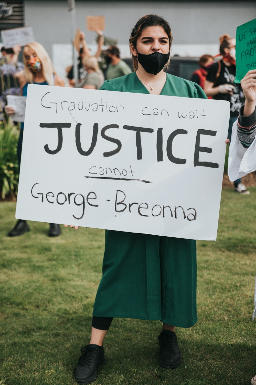
<path id="1" fill-rule="evenodd" d="M 106 80 L 101 89 L 149 94 L 135 72 Z M 170 74 L 160 95 L 207 99 L 199 85 Z M 195 240 L 106 230 L 102 273 L 94 316 L 180 327 L 197 321 Z"/>

